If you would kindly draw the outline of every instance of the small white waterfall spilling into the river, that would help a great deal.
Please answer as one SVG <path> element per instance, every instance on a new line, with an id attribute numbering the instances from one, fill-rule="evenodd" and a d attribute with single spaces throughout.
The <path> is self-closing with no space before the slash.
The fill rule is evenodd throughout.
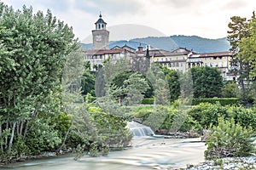
<path id="1" fill-rule="evenodd" d="M 150 127 L 138 122 L 128 122 L 128 127 L 135 137 L 154 136 L 154 132 Z"/>

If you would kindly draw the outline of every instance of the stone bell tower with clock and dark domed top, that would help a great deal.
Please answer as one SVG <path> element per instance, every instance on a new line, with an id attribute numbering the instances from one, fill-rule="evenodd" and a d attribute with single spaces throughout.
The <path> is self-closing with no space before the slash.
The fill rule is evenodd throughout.
<path id="1" fill-rule="evenodd" d="M 102 14 L 95 26 L 95 30 L 92 31 L 93 49 L 109 49 L 109 31 L 106 30 L 107 23 L 102 19 Z"/>

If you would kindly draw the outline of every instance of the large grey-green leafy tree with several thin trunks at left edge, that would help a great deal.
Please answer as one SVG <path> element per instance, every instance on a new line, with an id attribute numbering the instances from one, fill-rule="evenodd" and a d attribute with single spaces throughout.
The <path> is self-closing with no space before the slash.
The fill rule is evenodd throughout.
<path id="1" fill-rule="evenodd" d="M 42 128 L 49 131 L 54 128 L 43 117 L 61 112 L 63 67 L 79 43 L 72 28 L 49 10 L 33 14 L 32 7 L 15 11 L 0 3 L 0 18 L 0 133 L 9 131 L 1 135 L 1 149 L 10 151 L 19 135 L 26 140 L 35 122 L 46 124 Z"/>

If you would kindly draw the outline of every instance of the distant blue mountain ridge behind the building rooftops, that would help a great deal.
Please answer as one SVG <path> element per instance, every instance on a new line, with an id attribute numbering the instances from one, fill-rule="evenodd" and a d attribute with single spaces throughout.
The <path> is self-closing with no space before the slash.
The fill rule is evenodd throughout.
<path id="1" fill-rule="evenodd" d="M 138 46 L 143 46 L 149 44 L 151 48 L 165 49 L 172 51 L 176 48 L 187 48 L 193 49 L 196 53 L 214 53 L 214 52 L 224 52 L 229 51 L 230 42 L 226 37 L 218 39 L 208 39 L 198 36 L 171 36 L 171 37 L 143 37 L 134 38 L 130 41 L 120 40 L 115 42 L 109 42 L 109 48 L 115 46 L 123 47 L 125 45 L 131 48 L 136 48 Z M 81 47 L 84 49 L 91 49 L 92 44 L 81 43 Z"/>

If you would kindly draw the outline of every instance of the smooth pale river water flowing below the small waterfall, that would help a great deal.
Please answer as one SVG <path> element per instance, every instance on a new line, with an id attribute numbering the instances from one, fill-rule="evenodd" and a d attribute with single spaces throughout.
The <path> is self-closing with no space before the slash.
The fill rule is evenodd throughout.
<path id="1" fill-rule="evenodd" d="M 132 147 L 111 151 L 108 156 L 84 156 L 74 161 L 73 156 L 61 156 L 9 164 L 3 169 L 15 170 L 144 170 L 172 169 L 204 161 L 204 143 L 199 139 L 135 138 Z"/>

